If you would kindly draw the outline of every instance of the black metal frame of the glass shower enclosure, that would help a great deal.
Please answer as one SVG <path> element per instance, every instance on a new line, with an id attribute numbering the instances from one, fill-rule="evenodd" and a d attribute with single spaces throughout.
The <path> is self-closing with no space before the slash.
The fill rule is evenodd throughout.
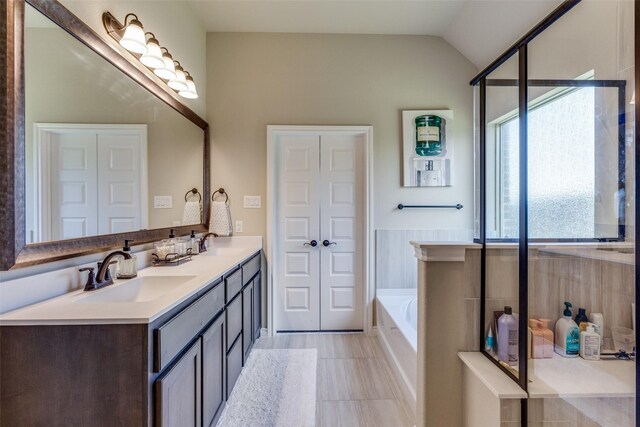
<path id="1" fill-rule="evenodd" d="M 480 348 L 479 350 L 493 362 L 498 368 L 500 368 L 507 376 L 517 382 L 520 387 L 526 392 L 528 383 L 527 372 L 527 328 L 528 328 L 528 251 L 529 251 L 529 238 L 528 238 L 528 176 L 527 176 L 527 146 L 528 146 L 528 88 L 530 86 L 559 86 L 559 87 L 617 87 L 618 88 L 618 141 L 619 141 L 619 154 L 618 154 L 618 188 L 624 189 L 625 184 L 625 82 L 618 80 L 529 80 L 528 76 L 528 44 L 540 35 L 544 30 L 551 26 L 554 22 L 564 16 L 573 7 L 575 7 L 581 0 L 565 0 L 555 10 L 553 10 L 545 19 L 543 19 L 538 25 L 531 29 L 527 34 L 514 43 L 507 51 L 494 60 L 487 68 L 485 68 L 480 74 L 474 77 L 470 84 L 471 86 L 478 86 L 478 98 L 479 98 L 479 161 L 480 161 L 480 174 L 479 174 L 479 239 L 476 241 L 482 244 L 481 250 L 481 268 L 480 268 Z M 640 40 L 640 7 L 634 2 L 634 36 L 635 40 Z M 513 55 L 518 53 L 518 79 L 517 80 L 490 80 L 487 76 L 500 67 Z M 640 93 L 638 91 L 640 87 L 640 43 L 635 43 L 635 87 L 634 93 Z M 516 377 L 506 368 L 501 366 L 489 353 L 484 351 L 485 342 L 485 315 L 486 315 L 486 260 L 487 260 L 487 236 L 486 236 L 486 95 L 487 86 L 503 85 L 503 86 L 518 86 L 518 119 L 519 119 L 519 149 L 520 149 L 520 169 L 519 169 L 519 239 L 518 239 L 518 265 L 519 265 L 519 343 L 518 356 L 519 356 L 519 375 Z M 635 109 L 635 121 L 634 121 L 634 135 L 638 135 L 640 130 L 640 109 Z M 637 139 L 635 140 L 634 149 L 634 189 L 640 188 L 640 176 L 638 174 L 638 165 L 640 164 L 640 149 Z M 634 224 L 640 224 L 640 198 L 634 197 L 635 200 L 635 217 Z M 625 209 L 624 204 L 619 205 L 619 223 L 618 223 L 618 237 L 617 239 L 606 240 L 624 240 L 625 238 Z M 634 241 L 640 242 L 640 227 L 634 227 Z M 534 240 L 534 239 L 531 239 Z M 489 240 L 491 241 L 491 240 Z M 544 242 L 549 239 L 535 239 L 534 241 Z M 553 239 L 553 241 L 589 241 L 589 239 Z M 602 241 L 602 239 L 593 239 L 593 241 Z M 635 251 L 635 266 L 640 263 L 640 251 Z M 636 318 L 640 318 L 640 272 L 635 269 L 635 300 L 636 300 Z M 639 341 L 640 333 L 636 329 L 636 342 Z M 638 396 L 638 386 L 640 384 L 640 362 L 636 358 L 636 408 L 640 403 L 640 396 Z M 521 425 L 527 425 L 527 399 L 521 400 Z M 640 411 L 636 410 L 636 425 L 640 425 Z"/>

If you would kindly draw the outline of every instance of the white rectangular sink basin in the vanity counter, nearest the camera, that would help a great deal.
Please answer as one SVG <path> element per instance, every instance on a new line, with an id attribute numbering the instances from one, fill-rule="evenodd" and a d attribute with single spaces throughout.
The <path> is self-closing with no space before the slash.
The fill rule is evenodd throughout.
<path id="1" fill-rule="evenodd" d="M 158 299 L 196 276 L 145 276 L 92 291 L 76 300 L 82 303 L 146 302 Z"/>

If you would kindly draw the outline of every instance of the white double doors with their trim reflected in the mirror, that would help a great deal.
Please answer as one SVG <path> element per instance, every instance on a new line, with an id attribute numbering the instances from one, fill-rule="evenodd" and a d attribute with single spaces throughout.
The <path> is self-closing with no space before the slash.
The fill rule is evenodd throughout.
<path id="1" fill-rule="evenodd" d="M 146 125 L 35 124 L 32 241 L 146 228 Z"/>

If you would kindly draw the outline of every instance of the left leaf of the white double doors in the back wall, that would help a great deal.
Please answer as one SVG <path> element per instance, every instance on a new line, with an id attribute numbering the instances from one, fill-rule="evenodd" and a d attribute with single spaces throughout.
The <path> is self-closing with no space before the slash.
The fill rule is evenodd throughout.
<path id="1" fill-rule="evenodd" d="M 320 329 L 319 142 L 317 134 L 281 135 L 277 141 L 278 331 Z"/>

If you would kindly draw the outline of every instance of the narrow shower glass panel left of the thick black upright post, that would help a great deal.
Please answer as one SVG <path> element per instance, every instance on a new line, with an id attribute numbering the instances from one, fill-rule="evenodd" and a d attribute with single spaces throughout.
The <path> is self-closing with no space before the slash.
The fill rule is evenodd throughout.
<path id="1" fill-rule="evenodd" d="M 486 78 L 484 334 L 494 337 L 485 353 L 519 379 L 518 317 L 518 55 Z M 479 119 L 480 120 L 480 119 Z M 508 142 L 508 143 L 505 143 Z M 515 144 L 510 142 L 515 141 Z M 501 168 L 508 164 L 512 168 Z M 516 169 L 513 169 L 516 168 Z M 509 311 L 511 314 L 509 314 Z M 506 314 L 505 314 L 506 312 Z M 504 316 L 504 317 L 503 317 Z M 485 340 L 486 342 L 486 340 Z"/>

